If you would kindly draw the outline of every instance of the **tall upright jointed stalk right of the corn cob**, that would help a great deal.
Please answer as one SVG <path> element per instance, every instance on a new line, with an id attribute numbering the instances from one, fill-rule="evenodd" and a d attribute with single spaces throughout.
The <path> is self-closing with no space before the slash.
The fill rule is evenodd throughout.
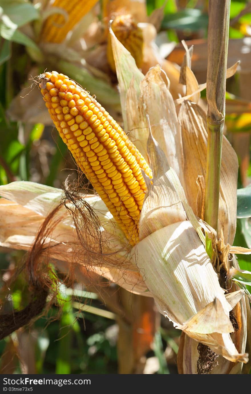
<path id="1" fill-rule="evenodd" d="M 209 0 L 205 220 L 218 230 L 230 0 Z M 219 234 L 218 234 L 219 235 Z"/>

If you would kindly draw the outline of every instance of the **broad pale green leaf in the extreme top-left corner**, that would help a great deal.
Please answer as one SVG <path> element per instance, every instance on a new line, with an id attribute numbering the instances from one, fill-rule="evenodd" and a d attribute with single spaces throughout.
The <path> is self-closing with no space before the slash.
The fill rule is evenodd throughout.
<path id="1" fill-rule="evenodd" d="M 18 27 L 39 18 L 39 12 L 31 2 L 2 0 L 1 7 L 4 14 Z"/>

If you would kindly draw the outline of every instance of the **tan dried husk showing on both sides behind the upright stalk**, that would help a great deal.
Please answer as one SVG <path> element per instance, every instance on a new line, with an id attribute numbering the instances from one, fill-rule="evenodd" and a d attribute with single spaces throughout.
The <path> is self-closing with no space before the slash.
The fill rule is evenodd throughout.
<path id="1" fill-rule="evenodd" d="M 185 101 L 180 108 L 178 119 L 182 125 L 186 195 L 191 208 L 196 212 L 197 177 L 206 177 L 206 113 L 197 104 Z M 236 231 L 237 177 L 236 153 L 223 136 L 218 230 L 223 229 L 224 238 L 230 244 Z"/>

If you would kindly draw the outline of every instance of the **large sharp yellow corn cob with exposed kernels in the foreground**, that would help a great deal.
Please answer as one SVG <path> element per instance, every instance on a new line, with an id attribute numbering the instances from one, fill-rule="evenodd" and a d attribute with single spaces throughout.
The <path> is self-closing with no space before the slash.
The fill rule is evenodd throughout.
<path id="1" fill-rule="evenodd" d="M 79 168 L 134 245 L 146 184 L 146 160 L 107 111 L 82 87 L 56 71 L 39 76 L 43 100 Z"/>

